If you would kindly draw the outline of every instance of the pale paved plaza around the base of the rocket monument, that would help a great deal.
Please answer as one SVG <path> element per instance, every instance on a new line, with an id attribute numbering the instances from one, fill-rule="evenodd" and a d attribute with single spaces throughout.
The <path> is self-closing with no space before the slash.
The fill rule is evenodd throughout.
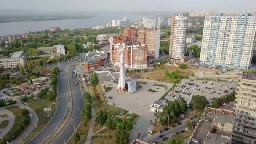
<path id="1" fill-rule="evenodd" d="M 146 82 L 141 84 L 142 88 L 136 91 L 134 94 L 128 92 L 119 93 L 116 91 L 117 85 L 111 82 L 101 83 L 101 88 L 104 90 L 103 86 L 110 86 L 112 90 L 105 93 L 107 96 L 107 103 L 113 105 L 115 103 L 116 107 L 126 109 L 129 112 L 133 112 L 139 115 L 136 125 L 130 135 L 130 141 L 136 138 L 136 133 L 141 133 L 140 139 L 144 139 L 149 135 L 149 130 L 152 128 L 149 120 L 154 120 L 154 113 L 149 111 L 149 106 L 160 99 L 172 86 L 171 83 L 159 82 L 155 80 L 140 79 L 138 81 Z M 154 84 L 165 85 L 165 86 L 154 86 Z M 154 89 L 156 92 L 149 92 L 149 88 Z M 167 89 L 166 89 L 167 88 Z M 110 98 L 109 98 L 110 97 Z"/>

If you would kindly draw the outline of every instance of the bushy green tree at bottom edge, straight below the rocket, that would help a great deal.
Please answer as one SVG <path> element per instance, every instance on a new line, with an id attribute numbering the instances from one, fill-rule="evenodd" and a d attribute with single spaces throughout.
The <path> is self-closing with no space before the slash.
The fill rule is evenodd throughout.
<path id="1" fill-rule="evenodd" d="M 124 122 L 117 123 L 115 141 L 117 144 L 128 144 L 129 142 L 129 134 Z"/>

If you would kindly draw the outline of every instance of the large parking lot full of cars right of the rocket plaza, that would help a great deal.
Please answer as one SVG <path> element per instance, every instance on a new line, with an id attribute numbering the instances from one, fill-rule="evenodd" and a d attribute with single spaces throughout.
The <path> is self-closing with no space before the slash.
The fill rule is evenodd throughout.
<path id="1" fill-rule="evenodd" d="M 205 96 L 211 105 L 213 99 L 235 91 L 236 87 L 236 83 L 182 79 L 181 83 L 176 84 L 174 91 L 169 92 L 161 101 L 163 105 L 167 105 L 168 101 L 182 98 L 189 104 L 192 96 L 201 95 Z"/>

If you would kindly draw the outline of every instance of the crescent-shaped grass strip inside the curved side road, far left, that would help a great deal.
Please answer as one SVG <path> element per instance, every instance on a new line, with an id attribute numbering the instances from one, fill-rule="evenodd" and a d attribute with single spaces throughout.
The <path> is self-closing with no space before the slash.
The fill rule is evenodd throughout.
<path id="1" fill-rule="evenodd" d="M 5 109 L 11 111 L 13 113 L 13 115 L 15 116 L 15 121 L 14 121 L 13 127 L 6 134 L 6 136 L 8 136 L 10 133 L 13 133 L 14 130 L 19 128 L 20 125 L 23 124 L 24 116 L 22 115 L 22 109 L 18 106 L 11 106 L 11 107 L 7 107 Z"/>

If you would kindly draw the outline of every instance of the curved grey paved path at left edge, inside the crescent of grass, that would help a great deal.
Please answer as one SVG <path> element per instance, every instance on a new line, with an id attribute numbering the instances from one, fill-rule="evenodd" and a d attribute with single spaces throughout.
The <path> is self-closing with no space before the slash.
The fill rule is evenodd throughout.
<path id="1" fill-rule="evenodd" d="M 0 115 L 8 115 L 8 117 L 3 118 L 0 116 L 0 123 L 4 120 L 9 120 L 8 125 L 6 128 L 0 128 L 0 139 L 3 139 L 3 137 L 11 130 L 13 127 L 14 121 L 15 121 L 15 116 L 13 115 L 12 112 L 8 111 L 5 109 L 5 107 L 0 108 Z"/>

